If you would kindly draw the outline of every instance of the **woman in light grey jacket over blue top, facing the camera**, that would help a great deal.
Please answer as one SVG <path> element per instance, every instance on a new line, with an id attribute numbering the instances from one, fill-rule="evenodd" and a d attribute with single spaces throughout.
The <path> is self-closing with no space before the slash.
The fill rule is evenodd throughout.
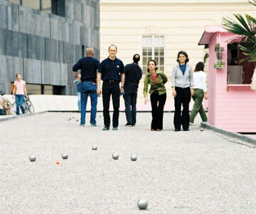
<path id="1" fill-rule="evenodd" d="M 174 131 L 189 131 L 189 103 L 193 96 L 193 69 L 190 64 L 188 54 L 181 50 L 177 55 L 176 66 L 172 72 L 172 94 L 174 96 Z M 183 111 L 181 114 L 181 104 Z"/>

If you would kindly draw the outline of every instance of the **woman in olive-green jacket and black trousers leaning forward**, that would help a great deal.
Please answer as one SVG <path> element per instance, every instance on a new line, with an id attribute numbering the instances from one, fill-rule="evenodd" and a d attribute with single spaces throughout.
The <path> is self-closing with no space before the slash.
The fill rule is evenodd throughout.
<path id="1" fill-rule="evenodd" d="M 164 105 L 166 102 L 167 77 L 164 72 L 158 71 L 155 60 L 149 60 L 147 74 L 144 79 L 145 104 L 149 102 L 147 97 L 148 86 L 152 108 L 151 131 L 161 131 L 163 129 Z"/>

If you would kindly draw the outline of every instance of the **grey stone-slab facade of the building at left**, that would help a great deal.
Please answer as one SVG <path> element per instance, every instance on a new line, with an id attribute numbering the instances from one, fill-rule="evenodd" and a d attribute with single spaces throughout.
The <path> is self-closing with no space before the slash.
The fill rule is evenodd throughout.
<path id="1" fill-rule="evenodd" d="M 65 17 L 0 0 L 0 91 L 21 72 L 28 84 L 63 86 L 76 94 L 72 67 L 82 45 L 100 57 L 99 0 L 66 0 Z M 29 91 L 33 93 L 33 91 Z"/>

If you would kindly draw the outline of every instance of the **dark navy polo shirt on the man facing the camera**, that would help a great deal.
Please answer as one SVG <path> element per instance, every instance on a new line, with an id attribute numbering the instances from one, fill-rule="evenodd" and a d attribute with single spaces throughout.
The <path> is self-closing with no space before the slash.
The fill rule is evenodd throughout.
<path id="1" fill-rule="evenodd" d="M 102 81 L 121 81 L 121 74 L 124 74 L 124 64 L 121 60 L 107 58 L 100 63 L 99 72 L 102 74 Z"/>

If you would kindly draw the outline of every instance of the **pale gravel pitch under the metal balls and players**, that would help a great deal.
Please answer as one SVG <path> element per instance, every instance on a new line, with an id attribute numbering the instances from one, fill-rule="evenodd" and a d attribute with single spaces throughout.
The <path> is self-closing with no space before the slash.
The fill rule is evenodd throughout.
<path id="1" fill-rule="evenodd" d="M 119 130 L 105 132 L 102 113 L 97 128 L 80 127 L 78 113 L 1 122 L 0 213 L 256 213 L 255 146 L 198 125 L 174 133 L 173 116 L 161 132 L 149 131 L 150 113 L 133 128 L 120 113 Z"/>

